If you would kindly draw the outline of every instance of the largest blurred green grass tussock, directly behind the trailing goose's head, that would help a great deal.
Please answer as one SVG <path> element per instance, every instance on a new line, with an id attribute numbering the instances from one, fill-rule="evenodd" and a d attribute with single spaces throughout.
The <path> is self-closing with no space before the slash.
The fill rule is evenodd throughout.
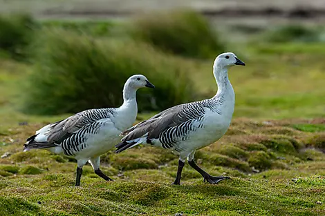
<path id="1" fill-rule="evenodd" d="M 139 90 L 140 112 L 194 99 L 192 81 L 185 76 L 189 68 L 146 44 L 91 39 L 61 30 L 44 33 L 38 44 L 35 68 L 24 90 L 26 112 L 58 114 L 120 106 L 124 82 L 135 74 L 145 75 L 156 86 Z"/>

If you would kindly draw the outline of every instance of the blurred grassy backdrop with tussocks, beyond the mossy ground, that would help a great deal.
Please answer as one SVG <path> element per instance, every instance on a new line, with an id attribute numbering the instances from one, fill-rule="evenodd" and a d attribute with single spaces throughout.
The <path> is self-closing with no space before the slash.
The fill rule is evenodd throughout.
<path id="1" fill-rule="evenodd" d="M 0 12 L 6 112 L 119 106 L 136 73 L 158 87 L 140 90 L 140 112 L 157 112 L 212 97 L 214 58 L 231 51 L 247 63 L 230 71 L 234 117 L 325 115 L 322 1 L 30 0 Z"/>

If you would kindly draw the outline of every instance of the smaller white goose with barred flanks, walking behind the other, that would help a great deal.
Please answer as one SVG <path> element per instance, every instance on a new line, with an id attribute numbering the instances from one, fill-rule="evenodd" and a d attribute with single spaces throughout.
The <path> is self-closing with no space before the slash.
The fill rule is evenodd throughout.
<path id="1" fill-rule="evenodd" d="M 143 75 L 129 77 L 123 88 L 122 106 L 84 110 L 48 124 L 27 139 L 24 151 L 44 148 L 77 159 L 75 186 L 80 186 L 82 167 L 87 161 L 98 176 L 111 181 L 100 170 L 100 155 L 113 148 L 120 141 L 120 133 L 136 121 L 136 91 L 142 87 L 155 88 Z"/>

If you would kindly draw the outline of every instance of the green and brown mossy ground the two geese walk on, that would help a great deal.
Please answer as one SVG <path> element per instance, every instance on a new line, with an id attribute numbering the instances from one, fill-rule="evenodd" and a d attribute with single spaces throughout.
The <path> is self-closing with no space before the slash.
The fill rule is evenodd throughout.
<path id="1" fill-rule="evenodd" d="M 102 157 L 102 170 L 115 181 L 100 179 L 86 165 L 82 186 L 74 187 L 73 159 L 46 150 L 21 153 L 39 124 L 7 128 L 1 135 L 0 155 L 10 155 L 0 159 L 0 214 L 324 215 L 324 130 L 297 130 L 300 124 L 317 126 L 234 119 L 227 135 L 196 153 L 199 166 L 232 179 L 210 185 L 186 164 L 180 186 L 171 186 L 177 157 L 142 146 Z"/>

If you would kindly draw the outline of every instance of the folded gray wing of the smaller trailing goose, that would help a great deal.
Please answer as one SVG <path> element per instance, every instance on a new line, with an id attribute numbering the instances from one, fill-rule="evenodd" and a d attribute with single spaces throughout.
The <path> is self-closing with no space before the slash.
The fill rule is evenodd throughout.
<path id="1" fill-rule="evenodd" d="M 78 112 L 77 114 L 59 121 L 48 132 L 48 143 L 61 142 L 73 132 L 92 124 L 100 119 L 110 118 L 115 114 L 114 108 L 91 109 Z"/>

